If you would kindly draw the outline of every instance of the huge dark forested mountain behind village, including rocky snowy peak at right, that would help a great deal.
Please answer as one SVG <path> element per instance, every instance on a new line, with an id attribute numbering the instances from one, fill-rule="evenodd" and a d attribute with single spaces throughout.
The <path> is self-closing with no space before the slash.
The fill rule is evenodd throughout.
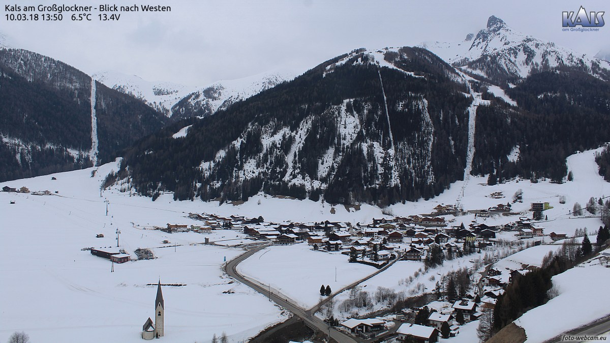
<path id="1" fill-rule="evenodd" d="M 426 47 L 356 49 L 229 107 L 205 88 L 178 105 L 226 110 L 140 142 L 123 175 L 153 197 L 384 206 L 470 175 L 562 182 L 565 157 L 610 141 L 608 62 L 495 16 L 463 42 Z"/>

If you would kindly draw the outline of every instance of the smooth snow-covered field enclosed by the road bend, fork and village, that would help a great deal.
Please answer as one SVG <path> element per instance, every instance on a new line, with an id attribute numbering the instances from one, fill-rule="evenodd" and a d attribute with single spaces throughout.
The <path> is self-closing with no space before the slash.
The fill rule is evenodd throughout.
<path id="1" fill-rule="evenodd" d="M 329 285 L 335 293 L 377 271 L 375 267 L 350 263 L 348 259 L 346 255 L 314 251 L 306 243 L 300 243 L 261 250 L 240 263 L 237 269 L 243 275 L 270 285 L 271 292 L 284 294 L 307 309 L 320 301 L 322 284 Z"/>

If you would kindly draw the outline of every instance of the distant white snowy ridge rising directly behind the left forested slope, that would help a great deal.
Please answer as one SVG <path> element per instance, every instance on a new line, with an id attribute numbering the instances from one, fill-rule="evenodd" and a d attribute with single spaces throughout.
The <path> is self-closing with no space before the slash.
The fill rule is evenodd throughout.
<path id="1" fill-rule="evenodd" d="M 137 75 L 127 75 L 118 71 L 100 71 L 91 75 L 96 81 L 144 101 L 148 106 L 171 116 L 171 107 L 192 92 L 192 88 L 173 82 L 151 82 Z"/>

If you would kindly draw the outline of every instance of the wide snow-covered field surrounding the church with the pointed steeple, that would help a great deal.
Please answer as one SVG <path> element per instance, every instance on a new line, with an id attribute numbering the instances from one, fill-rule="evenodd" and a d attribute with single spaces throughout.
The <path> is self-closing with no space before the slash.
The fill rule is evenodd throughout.
<path id="1" fill-rule="evenodd" d="M 33 342 L 140 342 L 142 325 L 154 317 L 156 286 L 147 284 L 159 278 L 186 284 L 163 287 L 168 342 L 209 342 L 223 331 L 239 342 L 284 320 L 285 313 L 265 297 L 223 275 L 224 258 L 242 250 L 190 245 L 204 237 L 243 240 L 243 234 L 145 229 L 196 222 L 180 211 L 189 203 L 152 203 L 128 193 L 104 192 L 110 201 L 106 216 L 99 182 L 112 167 L 102 166 L 93 178 L 89 169 L 57 174 L 56 181 L 41 176 L 9 182 L 30 190 L 59 190 L 61 197 L 0 192 L 1 342 L 17 330 Z M 110 261 L 81 251 L 115 247 L 116 228 L 121 247 L 132 258 L 138 247 L 152 248 L 157 258 L 114 264 L 111 272 Z M 99 233 L 105 237 L 96 238 Z M 171 244 L 162 248 L 168 246 L 162 244 L 165 239 Z M 223 294 L 229 290 L 234 293 Z"/>

